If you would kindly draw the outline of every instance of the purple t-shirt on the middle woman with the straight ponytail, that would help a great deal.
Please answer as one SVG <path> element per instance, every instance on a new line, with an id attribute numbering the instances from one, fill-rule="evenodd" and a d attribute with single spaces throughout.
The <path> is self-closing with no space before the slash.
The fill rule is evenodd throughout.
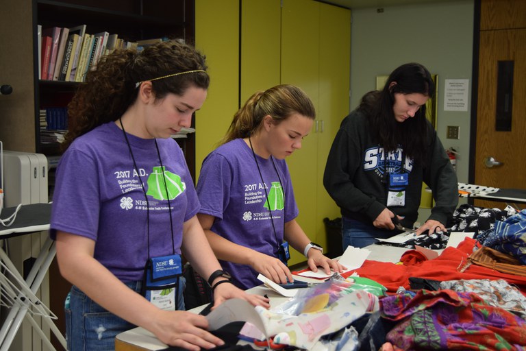
<path id="1" fill-rule="evenodd" d="M 199 213 L 216 217 L 212 232 L 277 257 L 284 223 L 297 217 L 298 208 L 285 160 L 257 155 L 255 158 L 257 165 L 252 150 L 242 139 L 230 141 L 210 153 L 203 161 L 197 183 Z M 258 272 L 248 265 L 227 261 L 221 261 L 221 265 L 242 289 L 261 283 L 256 278 Z"/>

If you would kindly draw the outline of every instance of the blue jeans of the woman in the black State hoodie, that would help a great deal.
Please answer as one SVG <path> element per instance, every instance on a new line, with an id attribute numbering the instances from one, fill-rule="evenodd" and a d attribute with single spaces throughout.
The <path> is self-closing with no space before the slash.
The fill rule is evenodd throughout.
<path id="1" fill-rule="evenodd" d="M 377 243 L 375 238 L 387 239 L 397 234 L 395 230 L 376 228 L 355 219 L 342 217 L 342 245 L 343 251 L 347 246 L 366 247 Z"/>

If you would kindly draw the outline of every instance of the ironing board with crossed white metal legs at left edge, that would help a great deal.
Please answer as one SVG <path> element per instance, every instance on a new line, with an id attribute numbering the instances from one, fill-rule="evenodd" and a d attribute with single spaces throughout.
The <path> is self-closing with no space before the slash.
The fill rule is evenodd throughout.
<path id="1" fill-rule="evenodd" d="M 2 217 L 10 216 L 15 209 L 14 207 L 4 208 Z M 51 204 L 23 205 L 12 226 L 5 227 L 0 224 L 0 239 L 49 230 L 50 217 Z M 35 295 L 55 257 L 55 252 L 55 243 L 48 237 L 42 245 L 32 269 L 27 274 L 27 278 L 24 279 L 8 254 L 3 250 L 3 246 L 0 246 L 0 303 L 10 308 L 8 317 L 0 329 L 0 351 L 10 349 L 24 318 L 32 324 L 34 331 L 40 335 L 47 348 L 55 350 L 51 341 L 37 324 L 34 315 L 42 317 L 42 322 L 49 326 L 55 337 L 66 349 L 66 339 L 53 322 L 53 319 L 57 319 L 56 315 Z"/>

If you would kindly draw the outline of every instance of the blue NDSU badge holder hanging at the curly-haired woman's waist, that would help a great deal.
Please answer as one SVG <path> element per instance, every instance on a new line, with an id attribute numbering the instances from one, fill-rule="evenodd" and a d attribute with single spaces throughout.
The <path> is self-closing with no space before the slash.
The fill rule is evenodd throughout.
<path id="1" fill-rule="evenodd" d="M 162 310 L 177 310 L 179 277 L 182 274 L 181 255 L 150 258 L 145 266 L 142 295 Z"/>

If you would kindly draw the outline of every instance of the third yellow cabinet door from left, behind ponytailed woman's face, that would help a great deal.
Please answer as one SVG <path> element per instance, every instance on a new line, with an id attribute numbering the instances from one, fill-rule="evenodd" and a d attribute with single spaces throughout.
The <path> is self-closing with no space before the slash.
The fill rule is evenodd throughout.
<path id="1" fill-rule="evenodd" d="M 318 111 L 319 3 L 284 0 L 281 9 L 281 84 L 305 90 Z M 313 128 L 301 149 L 287 158 L 299 207 L 297 221 L 312 241 L 316 240 L 317 135 Z M 290 250 L 289 265 L 305 261 L 303 253 Z"/>

